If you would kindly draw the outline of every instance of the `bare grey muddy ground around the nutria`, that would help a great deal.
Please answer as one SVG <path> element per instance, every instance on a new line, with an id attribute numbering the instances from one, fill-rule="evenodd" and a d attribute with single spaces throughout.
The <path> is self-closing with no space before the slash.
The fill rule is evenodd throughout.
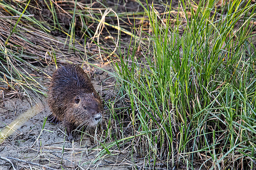
<path id="1" fill-rule="evenodd" d="M 100 65 L 100 67 L 112 72 L 109 64 Z M 47 72 L 50 75 L 54 70 L 53 65 L 47 68 Z M 88 69 L 85 70 L 88 72 Z M 114 79 L 110 78 L 111 75 L 98 68 L 92 68 L 90 74 L 95 89 L 103 96 L 103 99 L 107 100 L 111 98 L 110 95 L 114 83 Z M 45 81 L 48 80 L 43 80 L 43 82 Z M 0 84 L 0 87 L 8 88 L 3 84 Z M 44 96 L 37 96 L 33 92 L 30 92 L 32 98 L 30 102 L 30 99 L 26 96 L 14 94 L 10 98 L 8 95 L 15 92 L 4 92 L 4 94 L 3 92 L 1 96 L 4 96 L 4 102 L 0 103 L 0 129 L 4 131 L 4 129 L 9 129 L 8 127 L 12 126 L 13 123 L 22 123 L 18 127 L 15 127 L 17 129 L 11 128 L 12 130 L 10 131 L 13 133 L 0 144 L 0 156 L 4 158 L 8 158 L 8 156 L 18 158 L 55 169 L 76 169 L 78 165 L 81 169 L 96 168 L 114 170 L 121 168 L 126 170 L 131 168 L 122 163 L 118 155 L 101 158 L 95 164 L 90 164 L 94 160 L 97 151 L 88 151 L 86 147 L 90 149 L 97 145 L 94 143 L 93 138 L 85 136 L 80 141 L 81 134 L 76 134 L 76 140 L 73 146 L 69 141 L 64 141 L 65 127 L 61 123 L 55 125 L 46 121 L 44 130 L 42 131 L 44 119 L 51 114 Z M 42 134 L 40 135 L 41 131 Z M 63 147 L 63 161 L 61 162 Z M 17 169 L 30 169 L 30 166 L 36 169 L 45 169 L 45 167 L 28 164 L 20 160 L 8 159 Z M 117 166 L 120 163 L 121 165 Z M 114 164 L 116 164 L 115 167 L 113 167 Z M 8 169 L 12 169 L 11 163 L 7 160 L 0 159 L 0 170 Z"/>

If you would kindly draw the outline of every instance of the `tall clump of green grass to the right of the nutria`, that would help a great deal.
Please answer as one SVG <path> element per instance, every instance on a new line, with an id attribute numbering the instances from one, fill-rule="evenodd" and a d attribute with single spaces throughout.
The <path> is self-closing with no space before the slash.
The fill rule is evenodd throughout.
<path id="1" fill-rule="evenodd" d="M 153 51 L 142 61 L 134 45 L 114 65 L 130 99 L 130 142 L 149 166 L 256 167 L 256 6 L 217 3 L 182 1 L 174 17 L 148 4 Z"/>

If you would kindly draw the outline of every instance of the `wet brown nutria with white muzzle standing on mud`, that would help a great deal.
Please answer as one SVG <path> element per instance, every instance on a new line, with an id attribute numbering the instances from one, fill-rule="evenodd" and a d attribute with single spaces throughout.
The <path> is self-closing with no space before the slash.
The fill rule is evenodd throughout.
<path id="1" fill-rule="evenodd" d="M 84 70 L 67 64 L 55 70 L 47 98 L 52 123 L 63 122 L 72 140 L 77 127 L 96 127 L 102 121 L 102 100 Z"/>

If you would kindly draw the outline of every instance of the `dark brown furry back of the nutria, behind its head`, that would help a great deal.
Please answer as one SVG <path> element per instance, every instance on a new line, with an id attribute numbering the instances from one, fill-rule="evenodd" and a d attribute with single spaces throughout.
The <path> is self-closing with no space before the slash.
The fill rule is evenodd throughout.
<path id="1" fill-rule="evenodd" d="M 47 101 L 52 113 L 62 121 L 74 96 L 88 92 L 98 95 L 84 70 L 74 64 L 67 64 L 52 75 Z"/>

